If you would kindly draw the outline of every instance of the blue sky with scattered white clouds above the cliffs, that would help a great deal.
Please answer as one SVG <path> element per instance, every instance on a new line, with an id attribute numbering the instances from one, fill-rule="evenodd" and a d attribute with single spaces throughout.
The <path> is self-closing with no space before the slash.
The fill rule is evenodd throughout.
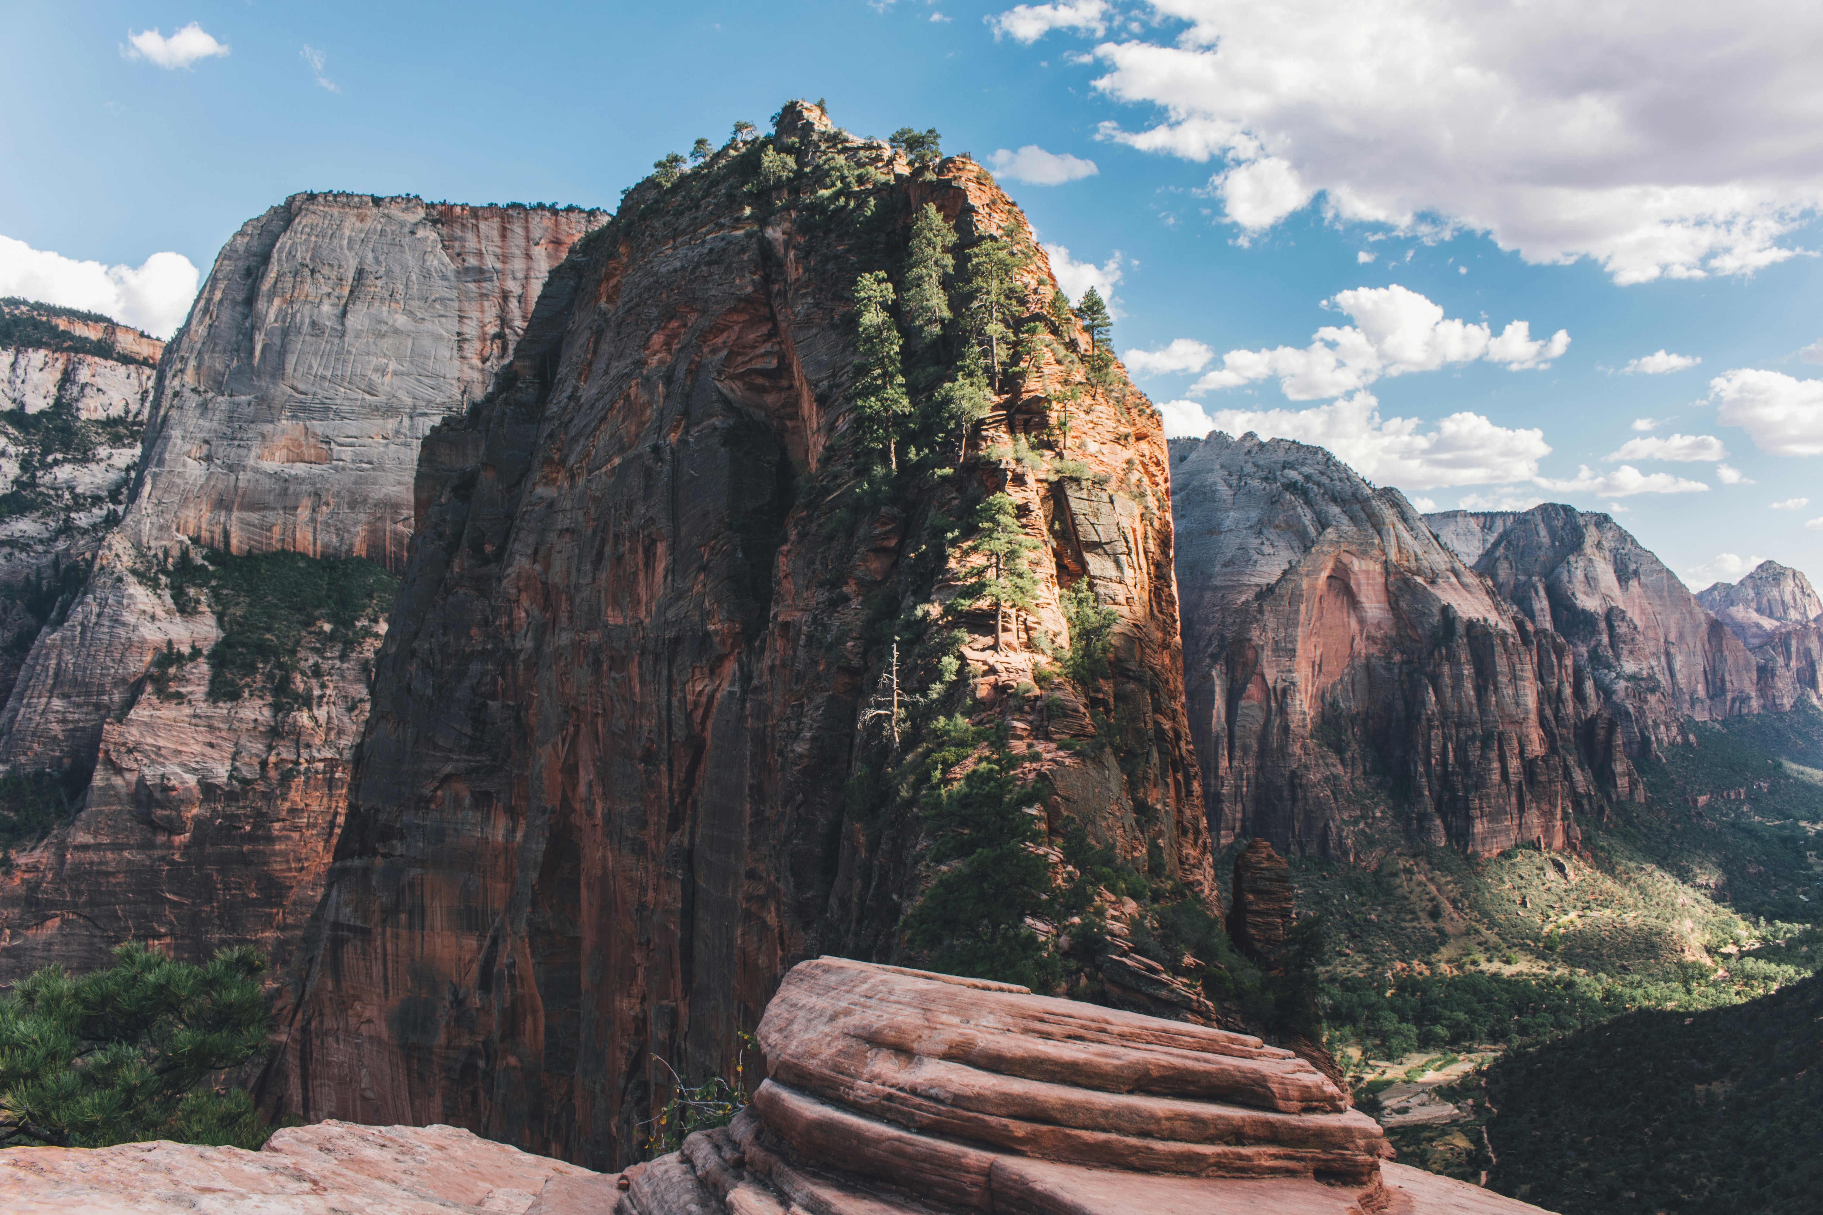
<path id="1" fill-rule="evenodd" d="M 1178 430 L 1823 574 L 1823 16 L 1591 7 L 9 2 L 0 290 L 171 328 L 288 193 L 611 208 L 822 97 L 997 166 Z"/>

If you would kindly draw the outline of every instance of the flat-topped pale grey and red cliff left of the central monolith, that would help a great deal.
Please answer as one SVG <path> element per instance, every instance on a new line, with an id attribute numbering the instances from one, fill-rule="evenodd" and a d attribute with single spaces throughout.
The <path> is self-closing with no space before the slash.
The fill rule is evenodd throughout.
<path id="1" fill-rule="evenodd" d="M 403 568 L 419 443 L 602 219 L 297 195 L 228 242 L 164 352 L 124 519 L 0 714 L 11 771 L 93 767 L 75 822 L 0 878 L 0 978 L 129 936 L 283 964 L 385 627 L 386 576 L 337 563 Z"/>

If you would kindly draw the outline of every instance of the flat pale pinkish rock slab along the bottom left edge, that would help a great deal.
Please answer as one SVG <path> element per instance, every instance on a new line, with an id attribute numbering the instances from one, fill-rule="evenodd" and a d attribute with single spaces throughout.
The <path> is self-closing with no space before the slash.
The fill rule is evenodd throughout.
<path id="1" fill-rule="evenodd" d="M 0 1151 L 7 1215 L 527 1215 L 547 1184 L 552 1215 L 576 1182 L 607 1182 L 454 1126 L 319 1122 L 277 1131 L 261 1151 L 149 1142 Z M 560 1193 L 561 1204 L 560 1204 Z M 607 1211 L 602 1195 L 594 1208 Z M 580 1197 L 580 1195 L 574 1195 Z"/>

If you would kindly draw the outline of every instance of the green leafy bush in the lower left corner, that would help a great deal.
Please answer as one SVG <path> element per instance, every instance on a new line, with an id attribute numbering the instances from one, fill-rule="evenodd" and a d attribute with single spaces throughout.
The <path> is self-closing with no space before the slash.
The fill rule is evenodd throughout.
<path id="1" fill-rule="evenodd" d="M 0 1148 L 173 1138 L 259 1148 L 272 1128 L 211 1077 L 266 1049 L 255 949 L 206 965 L 144 945 L 80 978 L 46 967 L 0 995 Z"/>

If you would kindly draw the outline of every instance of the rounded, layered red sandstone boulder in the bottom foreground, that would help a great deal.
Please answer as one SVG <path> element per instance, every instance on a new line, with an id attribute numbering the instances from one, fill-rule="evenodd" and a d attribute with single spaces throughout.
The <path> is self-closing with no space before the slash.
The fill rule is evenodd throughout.
<path id="1" fill-rule="evenodd" d="M 1373 1118 L 1247 1035 L 822 958 L 758 1036 L 753 1104 L 645 1166 L 616 1215 L 1533 1210 L 1404 1189 Z"/>

